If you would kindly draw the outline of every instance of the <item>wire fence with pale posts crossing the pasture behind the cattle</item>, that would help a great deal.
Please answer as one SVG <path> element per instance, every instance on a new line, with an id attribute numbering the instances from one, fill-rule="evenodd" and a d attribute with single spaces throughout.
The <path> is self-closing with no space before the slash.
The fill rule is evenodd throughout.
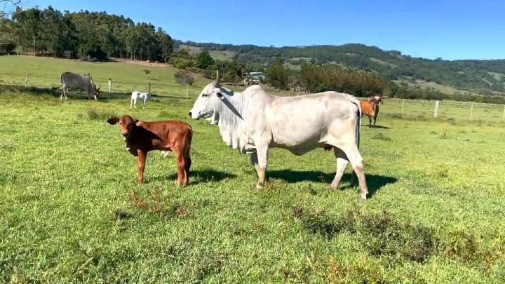
<path id="1" fill-rule="evenodd" d="M 107 79 L 93 79 L 102 92 L 107 93 Z M 26 73 L 3 73 L 0 83 L 12 86 L 35 88 L 58 88 L 60 76 Z M 201 92 L 200 86 L 182 86 L 173 80 L 161 81 L 153 74 L 150 79 L 135 79 L 121 81 L 112 79 L 112 93 L 128 95 L 133 90 L 151 91 L 161 97 L 177 97 L 189 99 Z M 278 94 L 282 95 L 282 94 Z M 289 95 L 289 94 L 284 94 Z M 368 100 L 361 98 L 361 100 Z M 504 104 L 486 104 L 478 102 L 406 100 L 389 98 L 379 107 L 380 114 L 417 119 L 454 119 L 476 121 L 505 121 Z"/>

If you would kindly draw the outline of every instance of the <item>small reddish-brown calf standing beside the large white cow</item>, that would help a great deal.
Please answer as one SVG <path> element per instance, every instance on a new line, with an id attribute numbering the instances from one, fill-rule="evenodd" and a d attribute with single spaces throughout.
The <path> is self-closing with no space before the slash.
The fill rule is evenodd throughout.
<path id="1" fill-rule="evenodd" d="M 177 156 L 177 186 L 189 184 L 191 138 L 193 130 L 182 121 L 138 121 L 131 116 L 112 117 L 109 124 L 119 123 L 126 141 L 126 150 L 137 157 L 137 182 L 144 182 L 147 152 L 159 150 L 163 156 L 174 152 Z"/>

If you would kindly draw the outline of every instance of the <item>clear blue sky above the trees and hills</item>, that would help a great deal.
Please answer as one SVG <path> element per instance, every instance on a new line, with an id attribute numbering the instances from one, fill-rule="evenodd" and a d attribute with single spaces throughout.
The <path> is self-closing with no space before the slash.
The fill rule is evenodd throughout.
<path id="1" fill-rule="evenodd" d="M 124 15 L 197 42 L 364 43 L 422 58 L 505 58 L 504 0 L 27 0 L 25 7 L 48 5 Z"/>

